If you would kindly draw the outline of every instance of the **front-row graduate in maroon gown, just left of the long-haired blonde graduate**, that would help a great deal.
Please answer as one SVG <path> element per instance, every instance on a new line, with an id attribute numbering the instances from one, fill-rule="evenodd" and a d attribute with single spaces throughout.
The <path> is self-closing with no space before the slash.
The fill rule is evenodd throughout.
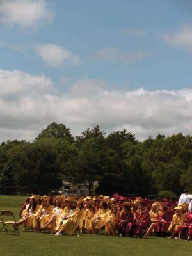
<path id="1" fill-rule="evenodd" d="M 136 211 L 135 219 L 133 223 L 129 223 L 126 228 L 127 234 L 137 234 L 142 236 L 146 228 L 150 225 L 150 214 L 145 207 L 146 202 L 141 201 L 138 211 Z"/>

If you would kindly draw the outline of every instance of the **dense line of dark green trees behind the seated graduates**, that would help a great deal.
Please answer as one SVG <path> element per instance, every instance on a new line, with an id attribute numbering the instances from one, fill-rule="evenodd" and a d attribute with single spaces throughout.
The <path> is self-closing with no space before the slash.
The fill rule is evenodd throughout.
<path id="1" fill-rule="evenodd" d="M 158 134 L 140 142 L 126 129 L 105 134 L 96 125 L 74 138 L 52 122 L 33 142 L 1 143 L 1 194 L 59 189 L 62 180 L 84 183 L 90 194 L 178 196 L 192 191 L 192 136 Z"/>

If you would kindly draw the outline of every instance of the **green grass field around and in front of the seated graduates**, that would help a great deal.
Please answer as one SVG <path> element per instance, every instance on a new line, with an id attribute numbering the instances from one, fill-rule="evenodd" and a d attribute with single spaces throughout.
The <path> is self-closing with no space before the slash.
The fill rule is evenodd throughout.
<path id="1" fill-rule="evenodd" d="M 19 220 L 23 196 L 0 196 L 0 209 L 11 210 Z M 45 233 L 20 232 L 20 236 L 0 235 L 1 256 L 73 256 L 73 255 L 192 255 L 192 243 L 175 239 L 149 237 L 111 237 L 82 234 L 81 236 L 51 236 Z"/>

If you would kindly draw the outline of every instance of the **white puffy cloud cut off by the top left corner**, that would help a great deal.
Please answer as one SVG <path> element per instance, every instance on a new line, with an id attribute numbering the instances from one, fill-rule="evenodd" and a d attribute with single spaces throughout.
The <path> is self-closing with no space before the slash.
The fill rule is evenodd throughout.
<path id="1" fill-rule="evenodd" d="M 42 22 L 50 22 L 53 15 L 45 0 L 0 1 L 0 24 L 37 29 Z"/>

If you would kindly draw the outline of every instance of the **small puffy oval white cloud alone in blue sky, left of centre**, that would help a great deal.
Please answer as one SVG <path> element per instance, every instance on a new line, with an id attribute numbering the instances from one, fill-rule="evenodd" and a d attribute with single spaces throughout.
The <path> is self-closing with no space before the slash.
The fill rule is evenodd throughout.
<path id="1" fill-rule="evenodd" d="M 72 54 L 68 49 L 54 44 L 39 44 L 35 47 L 36 54 L 45 64 L 52 67 L 60 65 L 79 65 L 79 57 Z"/>

